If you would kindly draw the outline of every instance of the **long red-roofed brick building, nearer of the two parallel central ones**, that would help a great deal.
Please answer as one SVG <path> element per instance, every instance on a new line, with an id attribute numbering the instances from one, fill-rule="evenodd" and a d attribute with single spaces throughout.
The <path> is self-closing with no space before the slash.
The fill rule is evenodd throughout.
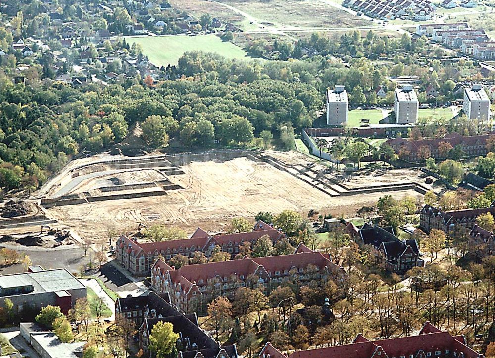
<path id="1" fill-rule="evenodd" d="M 268 295 L 289 278 L 344 279 L 343 270 L 328 254 L 307 251 L 301 245 L 298 250 L 299 253 L 292 255 L 209 262 L 178 270 L 158 260 L 151 269 L 151 287 L 158 293 L 168 293 L 174 306 L 190 313 L 204 311 L 205 305 L 215 297 L 233 297 L 240 287 L 259 288 Z"/>

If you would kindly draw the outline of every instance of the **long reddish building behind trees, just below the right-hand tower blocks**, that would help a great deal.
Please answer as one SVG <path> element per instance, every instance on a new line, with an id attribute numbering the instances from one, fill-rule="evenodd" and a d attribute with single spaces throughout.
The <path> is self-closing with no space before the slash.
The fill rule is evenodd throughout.
<path id="1" fill-rule="evenodd" d="M 439 150 L 439 144 L 442 142 L 448 143 L 452 148 L 459 146 L 466 157 L 484 156 L 488 153 L 485 146 L 486 141 L 491 136 L 493 134 L 463 137 L 454 132 L 444 138 L 420 139 L 415 141 L 407 138 L 395 138 L 387 140 L 386 143 L 399 154 L 401 159 L 410 163 L 417 163 L 424 160 L 424 158 L 418 156 L 422 147 L 426 147 L 430 151 L 430 156 L 434 159 L 445 158 L 448 153 L 443 153 Z"/>

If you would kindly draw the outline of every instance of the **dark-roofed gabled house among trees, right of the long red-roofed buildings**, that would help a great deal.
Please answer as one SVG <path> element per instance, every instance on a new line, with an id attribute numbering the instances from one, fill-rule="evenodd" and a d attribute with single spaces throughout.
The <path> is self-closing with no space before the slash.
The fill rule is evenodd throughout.
<path id="1" fill-rule="evenodd" d="M 359 230 L 357 243 L 372 245 L 377 249 L 381 266 L 389 272 L 405 272 L 413 267 L 423 267 L 425 262 L 420 258 L 418 243 L 415 239 L 400 240 L 392 227 L 383 228 L 378 225 L 364 224 Z"/>

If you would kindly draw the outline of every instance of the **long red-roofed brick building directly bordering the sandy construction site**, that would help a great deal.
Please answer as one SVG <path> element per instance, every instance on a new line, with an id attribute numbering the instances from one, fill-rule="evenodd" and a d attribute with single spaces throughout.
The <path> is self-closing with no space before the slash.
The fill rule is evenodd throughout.
<path id="1" fill-rule="evenodd" d="M 268 235 L 273 243 L 284 238 L 281 231 L 263 221 L 258 221 L 253 231 L 237 234 L 210 235 L 198 228 L 189 239 L 168 240 L 160 242 L 139 243 L 137 238 L 122 236 L 117 240 L 116 260 L 129 272 L 136 276 L 148 275 L 151 266 L 159 256 L 168 262 L 175 255 L 193 257 L 200 251 L 210 257 L 215 246 L 231 254 L 232 258 L 239 253 L 239 246 L 248 241 L 255 244 L 260 237 Z"/>

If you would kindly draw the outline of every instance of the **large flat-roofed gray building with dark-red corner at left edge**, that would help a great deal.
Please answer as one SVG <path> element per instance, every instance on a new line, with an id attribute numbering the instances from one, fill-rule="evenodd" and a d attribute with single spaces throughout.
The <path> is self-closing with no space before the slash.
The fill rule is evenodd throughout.
<path id="1" fill-rule="evenodd" d="M 0 307 L 8 298 L 17 312 L 52 305 L 67 314 L 83 297 L 86 287 L 65 268 L 0 276 Z"/>

